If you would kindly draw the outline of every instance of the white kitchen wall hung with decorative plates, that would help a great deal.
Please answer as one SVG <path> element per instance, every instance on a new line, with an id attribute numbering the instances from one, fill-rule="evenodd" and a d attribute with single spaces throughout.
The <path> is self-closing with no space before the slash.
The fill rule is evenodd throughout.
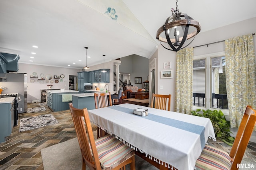
<path id="1" fill-rule="evenodd" d="M 46 83 L 46 80 L 37 80 L 36 78 L 33 78 L 35 80 L 34 83 L 30 82 L 30 75 L 33 75 L 33 72 L 36 72 L 38 77 L 40 78 L 40 74 L 44 74 L 46 76 L 47 74 L 50 74 L 52 76 L 60 76 L 61 74 L 64 74 L 63 82 L 60 82 L 60 79 L 52 79 L 53 81 L 59 80 L 58 83 L 53 82 L 52 89 L 54 88 L 65 88 L 65 90 L 68 90 L 68 77 L 69 75 L 77 75 L 77 72 L 81 71 L 80 69 L 74 69 L 74 68 L 62 68 L 62 67 L 53 67 L 53 66 L 43 66 L 43 65 L 35 65 L 35 64 L 24 64 L 19 63 L 19 73 L 27 73 L 28 74 L 28 103 L 30 103 L 32 100 L 38 100 L 38 102 L 41 101 L 41 89 L 48 89 L 49 87 Z M 43 84 L 40 82 L 43 81 Z"/>

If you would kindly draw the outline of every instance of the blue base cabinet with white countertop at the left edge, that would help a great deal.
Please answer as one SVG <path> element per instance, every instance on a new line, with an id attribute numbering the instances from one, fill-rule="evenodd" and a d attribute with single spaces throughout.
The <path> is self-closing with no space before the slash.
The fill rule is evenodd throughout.
<path id="1" fill-rule="evenodd" d="M 12 133 L 14 125 L 14 99 L 0 98 L 0 143 L 6 141 L 6 137 Z"/>

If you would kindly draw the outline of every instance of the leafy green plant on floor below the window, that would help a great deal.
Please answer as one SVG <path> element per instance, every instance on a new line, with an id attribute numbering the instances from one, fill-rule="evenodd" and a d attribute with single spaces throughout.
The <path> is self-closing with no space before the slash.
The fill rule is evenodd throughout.
<path id="1" fill-rule="evenodd" d="M 192 115 L 209 118 L 212 122 L 215 136 L 217 139 L 223 141 L 224 143 L 232 146 L 234 138 L 230 136 L 230 121 L 227 121 L 221 110 L 202 110 L 202 114 L 199 113 L 201 109 L 196 109 L 196 111 L 191 111 Z"/>

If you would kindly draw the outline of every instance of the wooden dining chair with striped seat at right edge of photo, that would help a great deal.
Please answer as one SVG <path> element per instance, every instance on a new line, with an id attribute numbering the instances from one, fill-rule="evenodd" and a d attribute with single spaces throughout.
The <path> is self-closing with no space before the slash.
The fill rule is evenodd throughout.
<path id="1" fill-rule="evenodd" d="M 256 111 L 251 106 L 247 106 L 230 153 L 208 145 L 204 147 L 200 157 L 196 160 L 196 169 L 238 170 L 237 164 L 242 161 L 255 123 Z"/>

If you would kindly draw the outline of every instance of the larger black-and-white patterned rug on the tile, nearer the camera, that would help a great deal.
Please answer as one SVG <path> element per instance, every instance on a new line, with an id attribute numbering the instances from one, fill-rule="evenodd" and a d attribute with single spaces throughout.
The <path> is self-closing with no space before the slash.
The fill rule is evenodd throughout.
<path id="1" fill-rule="evenodd" d="M 59 123 L 52 114 L 20 119 L 20 132 Z"/>

